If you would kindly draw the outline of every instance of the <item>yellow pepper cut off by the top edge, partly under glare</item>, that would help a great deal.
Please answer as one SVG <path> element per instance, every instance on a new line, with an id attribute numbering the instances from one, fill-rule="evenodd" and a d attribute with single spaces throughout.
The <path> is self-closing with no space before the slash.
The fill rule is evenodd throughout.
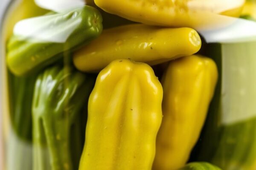
<path id="1" fill-rule="evenodd" d="M 239 16 L 245 0 L 95 0 L 103 10 L 154 26 L 214 26 L 214 14 Z M 228 4 L 228 5 L 227 5 Z"/>

